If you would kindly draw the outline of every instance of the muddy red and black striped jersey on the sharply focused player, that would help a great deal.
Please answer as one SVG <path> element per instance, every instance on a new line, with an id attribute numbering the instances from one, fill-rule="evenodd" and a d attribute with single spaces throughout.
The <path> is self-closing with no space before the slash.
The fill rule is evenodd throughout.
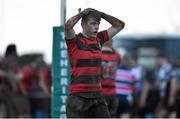
<path id="1" fill-rule="evenodd" d="M 66 39 L 71 63 L 70 93 L 87 98 L 99 96 L 101 90 L 101 46 L 109 40 L 107 30 L 91 40 L 81 33 L 74 39 Z"/>

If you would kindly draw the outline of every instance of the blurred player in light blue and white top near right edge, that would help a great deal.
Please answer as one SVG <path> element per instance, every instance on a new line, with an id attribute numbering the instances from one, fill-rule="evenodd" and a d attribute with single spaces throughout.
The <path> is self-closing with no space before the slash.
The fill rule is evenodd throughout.
<path id="1" fill-rule="evenodd" d="M 160 115 L 162 112 L 163 117 L 171 117 L 175 111 L 177 76 L 162 52 L 157 55 L 157 80 L 160 91 Z"/>

